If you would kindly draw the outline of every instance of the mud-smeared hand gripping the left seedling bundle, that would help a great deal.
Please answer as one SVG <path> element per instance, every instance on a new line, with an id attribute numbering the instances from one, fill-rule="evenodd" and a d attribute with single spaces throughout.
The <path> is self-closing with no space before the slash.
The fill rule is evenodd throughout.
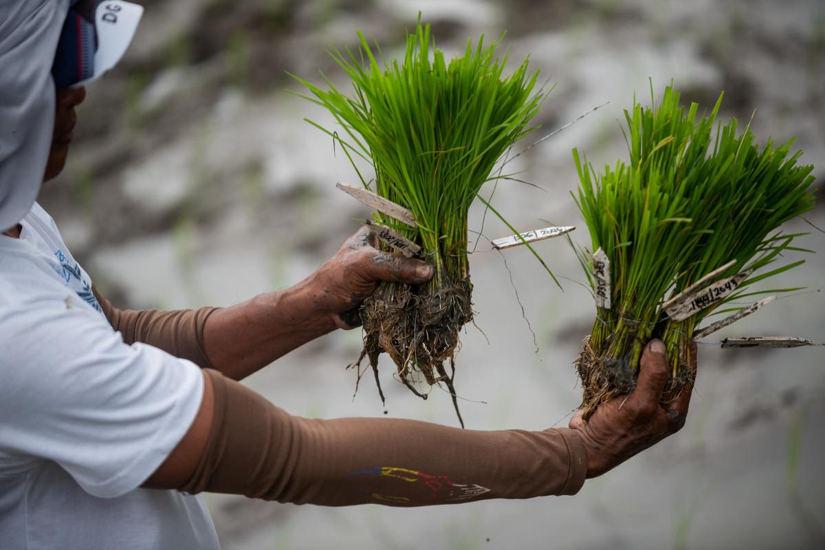
<path id="1" fill-rule="evenodd" d="M 313 274 L 315 304 L 332 315 L 339 329 L 361 324 L 358 309 L 382 281 L 422 284 L 433 268 L 420 259 L 404 258 L 377 248 L 369 227 L 352 235 L 337 253 Z"/>

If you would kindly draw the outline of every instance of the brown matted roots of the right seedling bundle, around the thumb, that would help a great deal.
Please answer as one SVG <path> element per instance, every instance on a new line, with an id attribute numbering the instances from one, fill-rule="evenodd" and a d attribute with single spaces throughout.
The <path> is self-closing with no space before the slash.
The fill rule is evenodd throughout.
<path id="1" fill-rule="evenodd" d="M 686 385 L 692 384 L 695 373 L 689 367 L 689 346 L 681 345 L 676 372 L 667 378 L 662 391 L 662 403 L 670 403 L 681 394 Z M 605 357 L 597 353 L 590 345 L 590 337 L 582 340 L 582 352 L 573 361 L 579 378 L 582 380 L 582 404 L 584 418 L 591 417 L 596 407 L 620 395 L 627 395 L 636 388 L 639 375 L 638 366 L 628 364 L 627 357 Z"/>

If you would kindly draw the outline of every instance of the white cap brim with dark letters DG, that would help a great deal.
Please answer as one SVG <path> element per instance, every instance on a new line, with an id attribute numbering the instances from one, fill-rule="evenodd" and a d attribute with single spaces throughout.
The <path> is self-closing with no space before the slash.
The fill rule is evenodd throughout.
<path id="1" fill-rule="evenodd" d="M 75 86 L 85 86 L 95 82 L 120 61 L 138 30 L 144 8 L 131 2 L 107 0 L 101 2 L 95 11 L 97 31 L 97 52 L 95 52 L 94 74 Z"/>

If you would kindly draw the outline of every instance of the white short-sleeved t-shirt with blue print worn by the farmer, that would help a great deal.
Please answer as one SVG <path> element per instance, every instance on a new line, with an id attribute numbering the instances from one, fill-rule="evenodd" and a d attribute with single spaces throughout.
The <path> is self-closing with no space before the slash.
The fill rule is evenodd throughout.
<path id="1" fill-rule="evenodd" d="M 199 496 L 141 489 L 191 426 L 200 369 L 127 346 L 35 204 L 0 235 L 0 548 L 217 550 Z"/>

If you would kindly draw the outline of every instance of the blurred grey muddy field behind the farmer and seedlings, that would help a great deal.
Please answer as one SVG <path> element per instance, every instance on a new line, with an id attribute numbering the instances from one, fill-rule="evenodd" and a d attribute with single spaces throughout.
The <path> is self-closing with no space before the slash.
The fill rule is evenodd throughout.
<path id="1" fill-rule="evenodd" d="M 610 102 L 512 163 L 497 208 L 524 229 L 587 229 L 568 191 L 570 151 L 596 166 L 625 156 L 622 110 L 675 79 L 687 100 L 747 122 L 761 140 L 797 138 L 825 180 L 825 2 L 821 0 L 144 0 L 125 61 L 89 89 L 68 169 L 42 203 L 97 286 L 122 308 L 230 305 L 298 282 L 356 231 L 368 211 L 335 189 L 356 175 L 331 140 L 304 122 L 332 120 L 286 72 L 347 86 L 328 57 L 356 30 L 398 52 L 417 12 L 441 49 L 495 37 L 530 54 L 557 83 L 523 144 Z M 487 192 L 492 190 L 488 189 Z M 482 210 L 471 228 L 482 230 Z M 820 201 L 809 219 L 825 227 Z M 794 335 L 825 342 L 825 235 L 808 263 L 775 287 L 808 287 L 700 346 L 683 431 L 589 481 L 573 497 L 398 510 L 323 509 L 208 495 L 223 548 L 825 548 L 825 348 L 731 351 L 724 336 Z M 509 233 L 493 217 L 483 232 Z M 455 384 L 469 428 L 566 426 L 580 389 L 571 362 L 589 333 L 592 297 L 562 240 L 472 256 L 478 329 L 468 327 Z M 504 260 L 507 260 L 505 265 Z M 793 258 L 795 259 L 795 257 Z M 511 282 L 512 281 L 512 282 Z M 521 305 L 519 303 L 521 301 Z M 522 306 L 524 316 L 522 316 Z M 528 320 L 529 319 L 529 323 Z M 535 338 L 534 338 L 535 334 Z M 457 425 L 449 395 L 424 402 L 392 379 L 386 407 L 371 380 L 353 397 L 358 330 L 320 338 L 247 379 L 290 413 L 383 416 Z M 368 377 L 369 378 L 369 377 Z M 483 459 L 483 457 L 479 457 Z"/>

